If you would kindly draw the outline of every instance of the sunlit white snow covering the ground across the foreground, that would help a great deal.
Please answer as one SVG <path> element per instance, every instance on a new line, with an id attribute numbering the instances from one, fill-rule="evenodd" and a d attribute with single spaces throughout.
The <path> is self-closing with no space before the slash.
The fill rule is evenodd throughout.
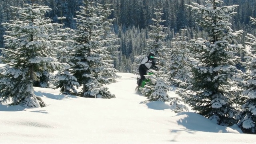
<path id="1" fill-rule="evenodd" d="M 167 102 L 144 103 L 136 75 L 107 85 L 116 98 L 81 98 L 34 87 L 48 106 L 0 104 L 0 144 L 246 144 L 254 134 L 224 127 L 194 112 L 175 113 Z M 171 89 L 168 95 L 177 97 Z"/>

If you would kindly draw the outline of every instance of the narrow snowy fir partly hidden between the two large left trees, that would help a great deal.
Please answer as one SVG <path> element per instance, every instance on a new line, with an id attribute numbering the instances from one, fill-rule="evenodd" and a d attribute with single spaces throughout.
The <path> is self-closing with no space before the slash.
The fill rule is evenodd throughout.
<path id="1" fill-rule="evenodd" d="M 63 18 L 58 18 L 62 20 Z M 63 27 L 63 26 L 62 26 Z M 74 41 L 72 40 L 72 29 L 70 28 L 58 28 L 56 30 L 57 34 L 55 36 L 58 43 L 58 53 L 56 58 L 59 62 L 67 63 L 69 65 L 73 65 L 70 62 L 71 55 L 74 53 L 72 48 L 72 44 Z M 77 90 L 75 88 L 79 86 L 77 79 L 70 74 L 70 66 L 63 67 L 58 71 L 57 74 L 51 77 L 51 82 L 54 85 L 53 89 L 60 88 L 61 94 L 67 95 L 76 95 Z"/>

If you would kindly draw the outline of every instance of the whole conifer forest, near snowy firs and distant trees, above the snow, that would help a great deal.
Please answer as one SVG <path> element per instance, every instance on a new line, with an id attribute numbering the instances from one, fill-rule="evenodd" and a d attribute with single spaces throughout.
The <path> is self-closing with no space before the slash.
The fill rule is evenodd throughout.
<path id="1" fill-rule="evenodd" d="M 44 107 L 33 86 L 115 98 L 154 52 L 148 101 L 256 134 L 255 0 L 1 0 L 0 24 L 0 104 Z"/>

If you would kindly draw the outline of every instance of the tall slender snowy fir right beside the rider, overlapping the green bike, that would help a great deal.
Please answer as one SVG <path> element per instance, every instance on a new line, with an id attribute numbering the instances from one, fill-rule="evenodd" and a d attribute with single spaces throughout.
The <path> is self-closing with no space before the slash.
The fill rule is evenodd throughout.
<path id="1" fill-rule="evenodd" d="M 150 52 L 154 52 L 158 57 L 157 66 L 159 71 L 154 71 L 153 75 L 146 76 L 150 79 L 150 82 L 146 83 L 144 88 L 140 88 L 142 94 L 148 98 L 149 101 L 168 101 L 169 96 L 167 94 L 168 81 L 166 79 L 166 62 L 167 62 L 167 51 L 168 49 L 164 46 L 163 40 L 167 36 L 164 31 L 164 26 L 161 25 L 162 20 L 162 9 L 155 8 L 155 18 L 152 18 L 153 24 L 150 25 L 149 39 L 146 41 L 146 48 L 144 50 L 147 56 Z M 158 90 L 159 88 L 159 90 Z"/>

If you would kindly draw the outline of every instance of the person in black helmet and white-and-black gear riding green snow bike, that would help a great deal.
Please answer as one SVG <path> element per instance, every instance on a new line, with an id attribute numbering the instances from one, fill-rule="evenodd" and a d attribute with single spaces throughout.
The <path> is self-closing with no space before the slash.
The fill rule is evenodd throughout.
<path id="1" fill-rule="evenodd" d="M 138 80 L 137 84 L 138 86 L 141 85 L 142 80 L 145 80 L 145 76 L 147 74 L 147 70 L 150 68 L 153 70 L 158 70 L 158 67 L 155 66 L 155 61 L 154 61 L 155 54 L 153 52 L 150 52 L 148 57 L 145 57 L 141 60 L 140 66 L 139 66 L 139 73 L 140 73 L 140 80 Z"/>

